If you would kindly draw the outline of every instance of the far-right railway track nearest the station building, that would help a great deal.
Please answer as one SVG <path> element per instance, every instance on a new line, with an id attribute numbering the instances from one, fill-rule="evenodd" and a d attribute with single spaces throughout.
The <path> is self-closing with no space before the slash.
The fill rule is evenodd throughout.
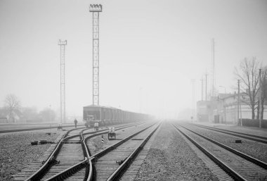
<path id="1" fill-rule="evenodd" d="M 261 142 L 261 143 L 267 144 L 267 137 L 262 137 L 259 135 L 251 135 L 251 134 L 247 134 L 247 133 L 243 133 L 243 132 L 224 130 L 224 129 L 220 129 L 220 128 L 216 128 L 216 127 L 205 126 L 205 125 L 197 125 L 197 124 L 190 124 L 190 125 L 195 125 L 196 127 L 202 127 L 202 128 L 208 129 L 208 130 L 213 130 L 216 132 L 222 132 L 222 133 L 227 134 L 227 135 L 233 135 L 235 137 L 242 137 L 245 139 L 253 140 L 255 142 Z"/>

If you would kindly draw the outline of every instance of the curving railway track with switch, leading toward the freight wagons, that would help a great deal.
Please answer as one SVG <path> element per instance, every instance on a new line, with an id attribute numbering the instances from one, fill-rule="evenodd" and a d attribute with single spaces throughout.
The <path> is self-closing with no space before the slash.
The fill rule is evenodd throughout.
<path id="1" fill-rule="evenodd" d="M 136 125 L 118 126 L 117 130 Z M 48 159 L 41 166 L 38 163 L 33 164 L 29 170 L 15 175 L 14 180 L 56 180 L 58 178 L 62 179 L 66 175 L 70 175 L 70 173 L 76 173 L 74 180 L 81 180 L 86 173 L 89 173 L 91 165 L 89 164 L 89 167 L 87 167 L 91 161 L 88 159 L 90 155 L 85 144 L 84 135 L 95 134 L 93 136 L 96 136 L 107 132 L 108 129 L 93 131 L 92 128 L 76 128 L 67 131 L 58 140 L 58 144 L 56 144 L 52 154 L 48 156 Z M 29 173 L 32 173 L 32 170 L 37 171 L 29 177 Z"/>

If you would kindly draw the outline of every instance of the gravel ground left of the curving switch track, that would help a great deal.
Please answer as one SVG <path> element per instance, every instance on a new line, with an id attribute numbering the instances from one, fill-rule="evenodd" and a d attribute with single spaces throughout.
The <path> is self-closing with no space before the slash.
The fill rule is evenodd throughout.
<path id="1" fill-rule="evenodd" d="M 51 136 L 46 135 L 46 132 L 51 132 Z M 60 132 L 57 132 L 56 129 L 1 134 L 0 180 L 11 180 L 11 175 L 19 173 L 32 161 L 37 161 L 51 145 L 31 146 L 30 142 L 41 139 L 53 142 L 59 135 Z"/>

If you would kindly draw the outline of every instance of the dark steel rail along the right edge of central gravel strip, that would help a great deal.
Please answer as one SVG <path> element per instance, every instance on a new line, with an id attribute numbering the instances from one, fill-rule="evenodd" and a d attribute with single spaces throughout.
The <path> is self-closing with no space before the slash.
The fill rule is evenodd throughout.
<path id="1" fill-rule="evenodd" d="M 183 136 L 185 136 L 187 139 L 190 140 L 195 146 L 197 146 L 198 149 L 200 149 L 204 154 L 206 154 L 209 158 L 211 158 L 214 163 L 216 163 L 221 169 L 223 169 L 230 177 L 233 177 L 234 180 L 240 180 L 240 181 L 247 181 L 244 177 L 242 177 L 240 174 L 235 172 L 232 168 L 226 166 L 225 163 L 223 163 L 219 158 L 214 156 L 214 154 L 211 154 L 207 149 L 204 149 L 204 147 L 200 146 L 197 142 L 195 142 L 193 139 L 191 139 L 188 135 L 186 135 L 184 132 L 182 132 L 178 127 L 176 127 L 174 124 L 172 124 L 178 132 L 181 132 Z"/>

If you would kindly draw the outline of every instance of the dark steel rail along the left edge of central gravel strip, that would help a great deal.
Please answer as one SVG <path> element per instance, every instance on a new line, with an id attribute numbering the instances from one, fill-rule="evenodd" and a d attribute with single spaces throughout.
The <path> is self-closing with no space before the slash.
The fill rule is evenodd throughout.
<path id="1" fill-rule="evenodd" d="M 146 137 L 146 139 L 131 153 L 131 155 L 128 156 L 128 158 L 126 158 L 126 160 L 122 163 L 122 165 L 120 165 L 119 168 L 117 168 L 117 170 L 115 170 L 115 172 L 112 173 L 112 175 L 110 175 L 110 177 L 108 178 L 108 181 L 117 180 L 119 176 L 125 172 L 125 170 L 130 166 L 131 162 L 136 158 L 136 156 L 141 151 L 141 149 L 143 149 L 143 146 L 145 146 L 146 142 L 148 142 L 150 137 L 154 134 L 154 132 L 157 130 L 157 128 L 160 125 L 161 123 L 157 125 L 155 130 L 150 132 L 150 135 L 148 135 L 148 137 Z"/>

